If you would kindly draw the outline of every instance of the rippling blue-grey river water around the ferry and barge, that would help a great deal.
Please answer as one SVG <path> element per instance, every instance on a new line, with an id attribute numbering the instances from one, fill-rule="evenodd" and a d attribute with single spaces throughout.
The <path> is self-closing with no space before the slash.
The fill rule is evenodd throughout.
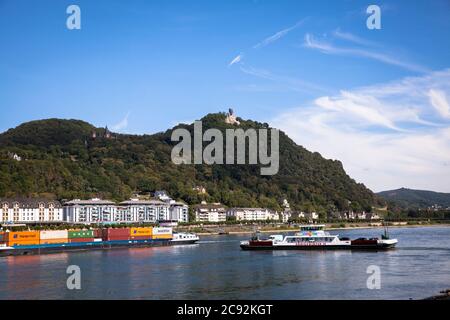
<path id="1" fill-rule="evenodd" d="M 379 237 L 381 229 L 332 231 Z M 420 299 L 450 288 L 450 228 L 391 228 L 385 252 L 241 251 L 249 235 L 190 246 L 0 258 L 0 299 Z M 69 265 L 81 289 L 67 288 Z M 368 289 L 369 266 L 380 289 Z"/>

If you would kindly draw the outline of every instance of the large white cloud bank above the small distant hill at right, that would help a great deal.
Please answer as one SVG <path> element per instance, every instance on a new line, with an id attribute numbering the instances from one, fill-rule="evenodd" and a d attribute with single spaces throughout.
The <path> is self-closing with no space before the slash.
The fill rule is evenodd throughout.
<path id="1" fill-rule="evenodd" d="M 307 149 L 341 160 L 374 191 L 450 192 L 450 120 L 436 115 L 430 90 L 434 104 L 446 106 L 450 69 L 319 97 L 271 124 Z"/>

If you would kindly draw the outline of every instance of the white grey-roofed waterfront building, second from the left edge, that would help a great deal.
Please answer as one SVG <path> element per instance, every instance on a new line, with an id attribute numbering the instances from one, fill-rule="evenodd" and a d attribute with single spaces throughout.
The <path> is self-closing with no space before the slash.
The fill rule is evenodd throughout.
<path id="1" fill-rule="evenodd" d="M 116 204 L 110 200 L 94 198 L 75 199 L 64 204 L 64 221 L 72 223 L 113 222 Z"/>

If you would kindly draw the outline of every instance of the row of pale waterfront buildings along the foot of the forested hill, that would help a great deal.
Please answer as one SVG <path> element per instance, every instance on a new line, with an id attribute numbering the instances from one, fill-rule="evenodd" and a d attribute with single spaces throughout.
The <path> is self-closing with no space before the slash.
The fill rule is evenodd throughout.
<path id="1" fill-rule="evenodd" d="M 115 203 L 98 198 L 75 199 L 61 204 L 46 199 L 0 199 L 0 222 L 10 223 L 158 223 L 162 221 L 189 222 L 189 206 L 171 199 L 164 191 L 155 192 L 154 199 L 132 198 Z M 193 206 L 196 222 L 220 223 L 236 221 L 278 221 L 290 219 L 319 219 L 315 212 L 291 212 L 285 205 L 283 212 L 267 208 L 226 208 L 220 203 Z M 333 213 L 328 218 L 342 220 L 380 219 L 372 213 Z"/>

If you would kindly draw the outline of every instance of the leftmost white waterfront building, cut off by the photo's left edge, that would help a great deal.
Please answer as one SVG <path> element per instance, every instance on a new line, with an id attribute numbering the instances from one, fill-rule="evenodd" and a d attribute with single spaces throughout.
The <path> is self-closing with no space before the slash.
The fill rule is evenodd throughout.
<path id="1" fill-rule="evenodd" d="M 40 198 L 0 199 L 0 222 L 39 223 L 63 221 L 59 201 Z"/>

